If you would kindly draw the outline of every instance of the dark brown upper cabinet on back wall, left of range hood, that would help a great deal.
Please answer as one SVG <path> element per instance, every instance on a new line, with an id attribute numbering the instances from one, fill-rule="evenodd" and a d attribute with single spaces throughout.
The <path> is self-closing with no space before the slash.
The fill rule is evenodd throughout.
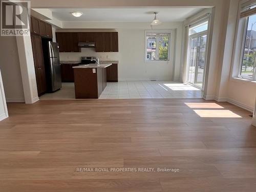
<path id="1" fill-rule="evenodd" d="M 80 52 L 77 33 L 57 32 L 56 41 L 59 44 L 59 52 Z"/>

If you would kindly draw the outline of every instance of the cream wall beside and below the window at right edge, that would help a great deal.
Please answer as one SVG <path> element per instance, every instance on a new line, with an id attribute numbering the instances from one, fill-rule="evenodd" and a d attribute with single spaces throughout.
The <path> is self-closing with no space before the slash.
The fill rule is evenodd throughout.
<path id="1" fill-rule="evenodd" d="M 229 101 L 231 103 L 237 104 L 244 109 L 253 111 L 256 98 L 256 83 L 235 79 L 232 76 L 232 67 L 238 67 L 236 65 L 236 60 L 232 52 L 234 43 L 236 42 L 236 27 L 237 27 L 237 15 L 239 11 L 239 0 L 230 0 L 229 14 L 226 29 L 225 47 L 224 47 L 224 57 L 220 62 L 221 68 L 220 73 L 220 84 L 219 89 L 217 89 L 217 100 Z"/>

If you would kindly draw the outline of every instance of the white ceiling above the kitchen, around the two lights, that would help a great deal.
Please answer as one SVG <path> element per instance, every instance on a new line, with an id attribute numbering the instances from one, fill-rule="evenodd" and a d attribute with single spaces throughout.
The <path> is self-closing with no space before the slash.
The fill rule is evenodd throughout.
<path id="1" fill-rule="evenodd" d="M 203 8 L 94 8 L 94 9 L 50 9 L 53 16 L 65 22 L 152 22 L 153 12 L 161 22 L 179 22 L 199 12 Z M 73 11 L 82 12 L 74 17 Z"/>

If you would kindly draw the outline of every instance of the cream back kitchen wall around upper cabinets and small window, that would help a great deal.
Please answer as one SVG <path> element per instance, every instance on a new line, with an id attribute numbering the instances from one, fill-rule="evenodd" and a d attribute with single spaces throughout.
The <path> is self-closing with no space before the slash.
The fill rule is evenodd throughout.
<path id="1" fill-rule="evenodd" d="M 93 26 L 92 26 L 93 25 Z M 94 22 L 93 24 L 84 22 L 63 23 L 70 29 L 57 29 L 57 32 L 64 31 L 118 31 L 119 52 L 118 53 L 96 53 L 93 48 L 82 48 L 81 53 L 60 53 L 60 60 L 80 60 L 81 56 L 97 56 L 100 60 L 118 60 L 119 80 L 180 80 L 180 56 L 182 40 L 182 22 L 165 23 L 155 27 L 153 30 L 173 30 L 174 36 L 177 33 L 176 40 L 172 42 L 175 49 L 172 48 L 170 60 L 168 62 L 144 62 L 144 42 L 145 30 L 151 30 L 149 23 L 108 23 L 102 24 Z M 105 28 L 113 29 L 95 29 Z M 79 29 L 86 27 L 85 29 Z M 93 28 L 93 30 L 88 30 Z M 172 54 L 175 50 L 175 55 Z M 174 66 L 175 65 L 175 66 Z"/>

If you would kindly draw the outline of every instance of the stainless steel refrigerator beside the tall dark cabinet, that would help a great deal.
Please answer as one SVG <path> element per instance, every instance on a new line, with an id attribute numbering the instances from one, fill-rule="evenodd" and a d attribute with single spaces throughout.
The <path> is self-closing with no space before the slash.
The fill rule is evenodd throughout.
<path id="1" fill-rule="evenodd" d="M 48 92 L 54 92 L 61 88 L 59 46 L 57 42 L 48 40 L 43 42 L 43 46 Z"/>

